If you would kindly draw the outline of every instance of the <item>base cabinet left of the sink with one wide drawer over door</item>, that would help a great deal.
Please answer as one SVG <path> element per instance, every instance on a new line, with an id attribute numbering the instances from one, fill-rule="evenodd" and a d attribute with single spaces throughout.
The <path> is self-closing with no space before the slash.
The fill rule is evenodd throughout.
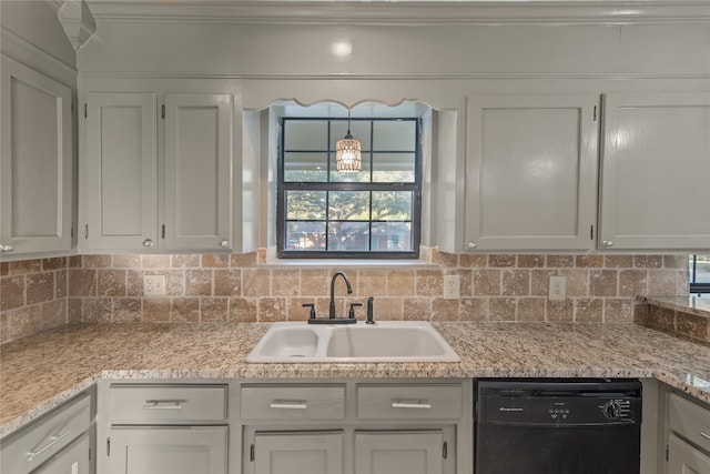
<path id="1" fill-rule="evenodd" d="M 104 393 L 108 392 L 108 393 Z M 226 384 L 109 383 L 102 474 L 225 474 Z"/>

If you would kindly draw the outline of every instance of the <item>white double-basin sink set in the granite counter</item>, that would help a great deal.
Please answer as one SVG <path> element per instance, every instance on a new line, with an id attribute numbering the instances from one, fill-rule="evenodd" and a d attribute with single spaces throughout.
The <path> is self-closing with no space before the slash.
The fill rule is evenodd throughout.
<path id="1" fill-rule="evenodd" d="M 459 362 L 442 335 L 424 321 L 382 321 L 375 324 L 307 325 L 274 323 L 246 362 Z"/>

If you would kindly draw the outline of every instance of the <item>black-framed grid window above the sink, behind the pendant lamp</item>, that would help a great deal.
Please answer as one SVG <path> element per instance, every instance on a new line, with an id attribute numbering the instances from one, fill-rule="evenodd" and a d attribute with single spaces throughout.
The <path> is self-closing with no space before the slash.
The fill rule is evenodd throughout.
<path id="1" fill-rule="evenodd" d="M 281 119 L 278 256 L 414 259 L 419 253 L 420 119 L 353 118 L 362 171 L 338 173 L 348 119 Z"/>

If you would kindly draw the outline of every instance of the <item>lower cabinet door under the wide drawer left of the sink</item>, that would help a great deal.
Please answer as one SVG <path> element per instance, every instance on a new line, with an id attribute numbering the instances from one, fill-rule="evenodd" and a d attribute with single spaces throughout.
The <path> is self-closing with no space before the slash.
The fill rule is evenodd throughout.
<path id="1" fill-rule="evenodd" d="M 111 474 L 224 474 L 226 426 L 113 426 Z"/>

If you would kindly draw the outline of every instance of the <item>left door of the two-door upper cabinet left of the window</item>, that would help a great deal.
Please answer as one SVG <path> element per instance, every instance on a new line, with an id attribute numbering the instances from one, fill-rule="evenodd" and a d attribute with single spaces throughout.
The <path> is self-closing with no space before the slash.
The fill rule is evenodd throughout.
<path id="1" fill-rule="evenodd" d="M 88 93 L 85 250 L 158 249 L 154 93 Z M 81 245 L 83 242 L 84 245 Z"/>

